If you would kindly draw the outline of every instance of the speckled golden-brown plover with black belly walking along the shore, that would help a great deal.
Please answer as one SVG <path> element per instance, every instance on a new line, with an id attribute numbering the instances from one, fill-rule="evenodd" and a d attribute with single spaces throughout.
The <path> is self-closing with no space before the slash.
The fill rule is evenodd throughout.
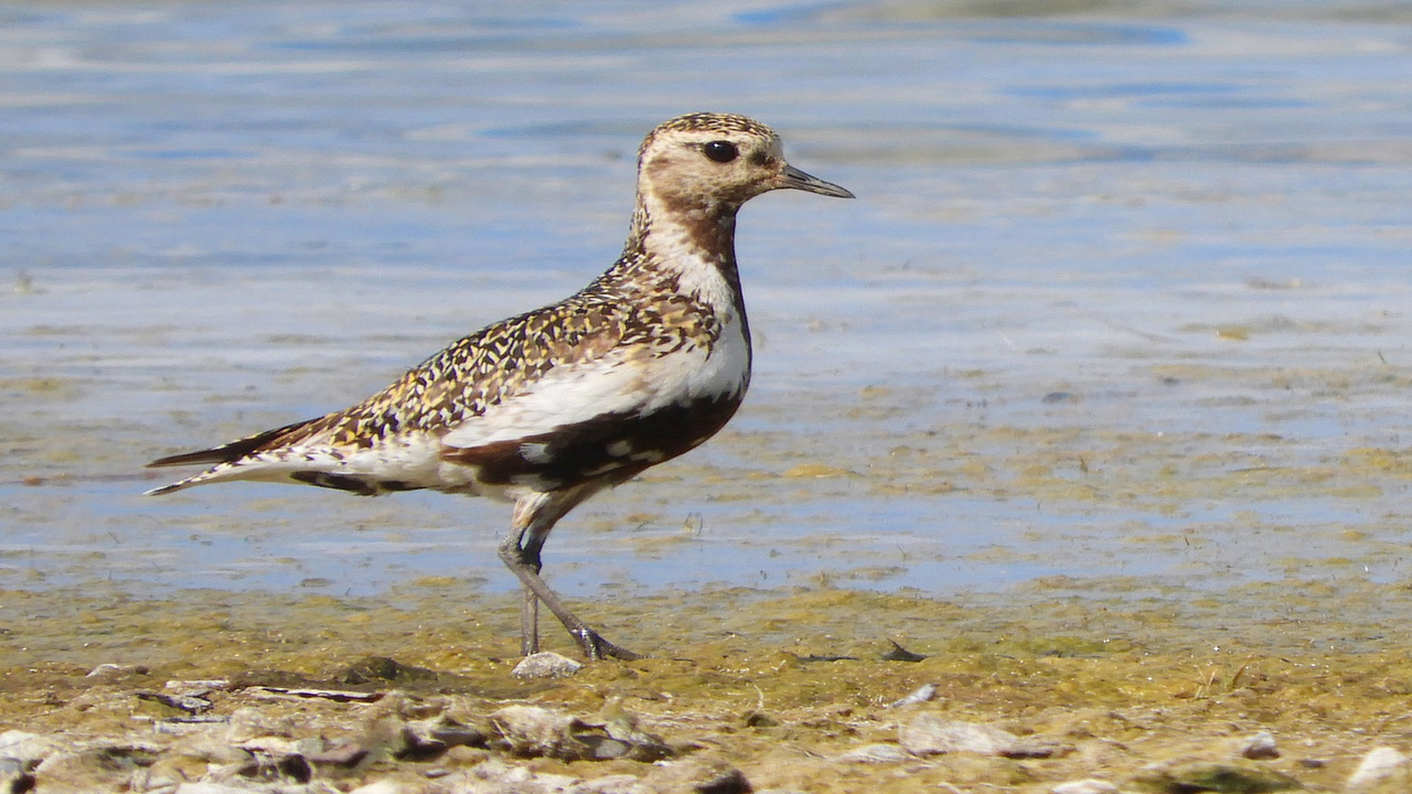
<path id="1" fill-rule="evenodd" d="M 754 119 L 664 122 L 638 148 L 623 254 L 587 287 L 453 342 L 350 408 L 152 461 L 208 468 L 147 494 L 257 480 L 508 502 L 498 555 L 521 585 L 521 654 L 539 653 L 544 603 L 589 660 L 640 658 L 545 583 L 542 550 L 583 500 L 699 446 L 736 414 L 753 360 L 736 215 L 775 189 L 854 198 L 789 165 L 779 136 Z"/>

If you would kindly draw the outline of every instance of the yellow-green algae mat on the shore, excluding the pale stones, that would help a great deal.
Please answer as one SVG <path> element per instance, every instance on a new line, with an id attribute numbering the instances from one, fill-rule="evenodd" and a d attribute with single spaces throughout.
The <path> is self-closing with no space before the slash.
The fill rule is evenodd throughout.
<path id="1" fill-rule="evenodd" d="M 809 588 L 599 599 L 583 612 L 614 641 L 654 656 L 590 664 L 566 680 L 520 681 L 510 675 L 515 598 L 439 578 L 363 599 L 4 591 L 0 728 L 130 736 L 165 716 L 137 692 L 167 680 L 227 678 L 237 687 L 213 695 L 213 713 L 257 708 L 291 721 L 295 733 L 336 737 L 363 723 L 359 706 L 251 704 L 241 687 L 397 688 L 411 698 L 449 698 L 466 719 L 505 702 L 580 715 L 618 709 L 672 746 L 710 747 L 758 788 L 819 793 L 942 783 L 1039 793 L 1080 777 L 1152 777 L 1144 771 L 1151 764 L 1224 769 L 1240 739 L 1261 730 L 1276 736 L 1284 753 L 1241 762 L 1264 770 L 1260 780 L 1336 790 L 1363 753 L 1402 736 L 1412 629 L 1365 619 L 1374 600 L 1405 606 L 1405 586 L 1264 583 L 1189 603 L 1134 603 L 1123 586 L 1083 599 L 1055 592 L 1036 586 L 991 605 Z M 1299 615 L 1300 593 L 1305 606 L 1317 605 L 1317 623 Z M 1240 615 L 1238 630 L 1228 629 Z M 572 654 L 556 627 L 546 626 L 545 640 Z M 923 658 L 885 661 L 891 640 Z M 424 672 L 380 678 L 377 670 L 390 664 L 383 657 Z M 124 667 L 86 678 L 99 664 Z M 363 670 L 364 682 L 349 684 L 350 670 Z M 931 701 L 888 708 L 923 684 L 936 685 Z M 1022 760 L 964 753 L 836 760 L 897 742 L 898 725 L 923 712 L 1065 750 Z M 367 774 L 388 774 L 390 764 Z M 633 762 L 534 766 L 582 777 L 647 771 Z"/>

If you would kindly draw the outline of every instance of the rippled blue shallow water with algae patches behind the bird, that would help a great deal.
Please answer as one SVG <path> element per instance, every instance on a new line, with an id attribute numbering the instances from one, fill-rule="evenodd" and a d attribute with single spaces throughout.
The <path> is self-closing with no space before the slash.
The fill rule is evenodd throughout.
<path id="1" fill-rule="evenodd" d="M 1405 582 L 1408 20 L 947 8 L 0 8 L 0 586 L 510 589 L 503 506 L 140 468 L 572 292 L 695 109 L 860 199 L 746 209 L 747 405 L 556 586 Z"/>

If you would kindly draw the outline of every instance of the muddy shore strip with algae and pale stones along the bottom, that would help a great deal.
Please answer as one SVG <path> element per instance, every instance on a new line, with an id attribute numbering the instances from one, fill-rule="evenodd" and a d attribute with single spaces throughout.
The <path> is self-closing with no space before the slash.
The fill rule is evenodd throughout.
<path id="1" fill-rule="evenodd" d="M 82 784 L 92 791 L 213 780 L 254 791 L 378 781 L 388 791 L 548 791 L 524 786 L 565 783 L 552 776 L 618 776 L 606 791 L 685 791 L 695 783 L 668 771 L 729 767 L 755 790 L 1038 793 L 1099 778 L 1175 793 L 1195 790 L 1182 788 L 1183 776 L 1206 774 L 1203 764 L 1343 791 L 1368 752 L 1408 739 L 1412 660 L 1396 615 L 1409 598 L 1405 586 L 1295 582 L 1282 610 L 1251 589 L 1185 605 L 1101 593 L 1008 605 L 829 588 L 658 593 L 586 606 L 611 639 L 657 657 L 522 681 L 511 674 L 514 599 L 455 582 L 381 599 L 7 591 L 0 609 L 16 620 L 0 644 L 0 726 L 90 760 L 107 753 L 42 767 L 40 791 L 82 774 L 95 776 Z M 1370 600 L 1387 609 L 1382 623 L 1300 615 L 1316 602 L 1336 616 Z M 572 654 L 566 639 L 548 639 Z M 892 641 L 925 658 L 885 660 Z M 209 705 L 184 709 L 182 692 L 202 685 Z M 929 699 L 891 706 L 926 685 Z M 308 689 L 374 699 L 289 694 Z M 662 750 L 630 760 L 527 749 L 503 733 L 496 715 L 508 706 L 575 718 L 580 739 L 630 723 Z M 918 750 L 908 730 L 926 721 L 986 726 L 1018 749 Z M 481 737 L 408 750 L 404 726 L 426 725 Z M 1243 757 L 1260 733 L 1275 754 Z M 378 757 L 340 766 L 339 753 L 354 750 Z M 294 754 L 309 771 L 278 767 Z"/>

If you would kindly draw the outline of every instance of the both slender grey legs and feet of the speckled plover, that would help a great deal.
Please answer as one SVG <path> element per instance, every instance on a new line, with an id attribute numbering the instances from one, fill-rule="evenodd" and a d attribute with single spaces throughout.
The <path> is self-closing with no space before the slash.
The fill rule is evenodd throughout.
<path id="1" fill-rule="evenodd" d="M 539 568 L 542 567 L 539 551 L 544 548 L 544 541 L 549 537 L 549 530 L 554 528 L 555 521 L 568 513 L 569 509 L 590 493 L 537 493 L 521 499 L 515 504 L 510 534 L 500 544 L 500 559 L 505 564 L 505 568 L 510 568 L 520 578 L 525 593 L 524 603 L 520 608 L 520 650 L 527 656 L 535 653 L 539 647 L 537 617 L 539 602 L 544 602 L 549 608 L 549 612 L 559 619 L 559 623 L 563 623 L 563 627 L 569 630 L 569 636 L 583 650 L 583 656 L 590 660 L 642 658 L 640 654 L 604 640 L 587 623 L 569 612 L 563 599 L 539 578 Z"/>

